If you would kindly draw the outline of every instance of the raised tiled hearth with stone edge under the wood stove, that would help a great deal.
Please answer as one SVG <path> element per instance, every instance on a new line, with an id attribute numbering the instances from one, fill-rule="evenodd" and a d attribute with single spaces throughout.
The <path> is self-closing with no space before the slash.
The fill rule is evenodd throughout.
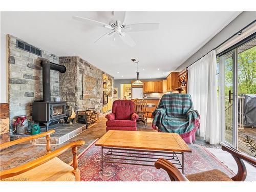
<path id="1" fill-rule="evenodd" d="M 80 124 L 80 123 L 73 123 L 71 125 L 64 123 L 58 123 L 55 125 L 49 126 L 49 130 L 55 130 L 55 133 L 51 135 L 51 144 L 61 144 L 65 141 L 68 141 L 72 137 L 75 137 L 76 135 L 82 133 L 84 130 L 86 130 L 86 124 Z M 45 132 L 45 127 L 41 127 L 41 133 Z M 28 134 L 23 135 L 11 135 L 11 140 L 20 139 L 24 137 L 31 136 Z M 26 143 L 26 142 L 25 142 Z M 28 141 L 27 144 L 46 144 L 46 138 L 37 138 L 33 139 L 31 141 Z"/>

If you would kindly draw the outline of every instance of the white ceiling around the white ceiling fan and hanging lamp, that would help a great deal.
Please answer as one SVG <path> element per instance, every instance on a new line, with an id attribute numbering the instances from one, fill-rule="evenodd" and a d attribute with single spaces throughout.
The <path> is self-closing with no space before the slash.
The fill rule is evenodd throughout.
<path id="1" fill-rule="evenodd" d="M 109 23 L 112 12 L 1 12 L 1 33 L 11 34 L 58 56 L 78 55 L 115 79 L 162 78 L 174 71 L 240 12 L 126 12 L 126 24 L 160 23 L 157 31 L 128 32 L 136 46 L 119 38 L 94 41 L 109 31 L 72 19 Z M 142 70 L 144 69 L 144 70 Z M 158 70 L 159 69 L 159 70 Z"/>

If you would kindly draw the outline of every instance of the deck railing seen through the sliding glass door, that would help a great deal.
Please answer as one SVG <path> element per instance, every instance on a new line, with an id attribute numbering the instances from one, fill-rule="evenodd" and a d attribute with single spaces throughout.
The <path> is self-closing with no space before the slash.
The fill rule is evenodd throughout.
<path id="1" fill-rule="evenodd" d="M 239 111 L 238 111 L 238 129 L 244 129 L 244 99 L 245 97 L 238 96 Z M 232 99 L 225 97 L 225 129 L 232 130 Z"/>

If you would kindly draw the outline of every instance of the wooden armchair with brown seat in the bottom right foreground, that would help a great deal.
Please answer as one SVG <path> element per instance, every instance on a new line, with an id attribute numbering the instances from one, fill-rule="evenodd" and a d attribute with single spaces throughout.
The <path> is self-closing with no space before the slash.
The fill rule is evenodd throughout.
<path id="1" fill-rule="evenodd" d="M 222 146 L 221 148 L 223 151 L 230 153 L 237 162 L 238 173 L 232 178 L 218 169 L 207 170 L 206 172 L 185 176 L 173 163 L 163 158 L 160 158 L 155 162 L 155 167 L 157 169 L 162 168 L 166 170 L 171 181 L 244 181 L 246 179 L 247 172 L 243 160 L 251 163 L 252 165 L 256 165 L 256 159 L 243 155 L 229 146 Z"/>

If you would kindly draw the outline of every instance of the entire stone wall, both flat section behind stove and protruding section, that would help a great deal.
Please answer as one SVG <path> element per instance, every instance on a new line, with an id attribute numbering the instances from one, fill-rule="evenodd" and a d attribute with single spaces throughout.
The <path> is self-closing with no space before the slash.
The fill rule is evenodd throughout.
<path id="1" fill-rule="evenodd" d="M 7 38 L 11 125 L 12 119 L 19 115 L 26 115 L 28 119 L 32 119 L 32 102 L 42 100 L 42 70 L 39 56 L 16 48 L 16 37 L 8 35 Z M 67 101 L 75 111 L 95 108 L 102 114 L 103 91 L 110 92 L 110 98 L 113 97 L 113 87 L 103 89 L 102 86 L 102 74 L 106 73 L 78 56 L 59 57 L 46 50 L 41 51 L 42 58 L 65 65 L 67 68 L 64 74 L 51 70 L 51 100 L 55 96 L 60 96 L 61 100 Z M 96 79 L 93 93 L 83 90 L 84 75 Z M 112 80 L 113 85 L 113 77 L 106 75 Z"/>

